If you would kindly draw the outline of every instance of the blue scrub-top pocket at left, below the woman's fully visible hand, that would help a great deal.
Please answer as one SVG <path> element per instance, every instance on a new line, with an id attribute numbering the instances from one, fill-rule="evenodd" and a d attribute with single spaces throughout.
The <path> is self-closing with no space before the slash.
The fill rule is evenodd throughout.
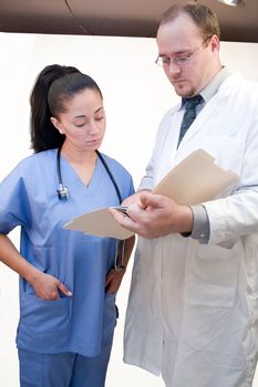
<path id="1" fill-rule="evenodd" d="M 20 324 L 32 334 L 54 335 L 68 330 L 72 299 L 43 301 L 30 293 L 22 294 Z"/>

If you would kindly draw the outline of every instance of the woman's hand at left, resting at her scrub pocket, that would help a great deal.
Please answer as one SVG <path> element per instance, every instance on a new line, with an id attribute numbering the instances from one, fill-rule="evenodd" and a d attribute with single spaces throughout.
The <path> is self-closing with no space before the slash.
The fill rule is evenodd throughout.
<path id="1" fill-rule="evenodd" d="M 60 300 L 60 293 L 63 293 L 68 297 L 72 295 L 70 290 L 55 276 L 42 272 L 37 274 L 31 285 L 38 297 L 44 301 Z"/>

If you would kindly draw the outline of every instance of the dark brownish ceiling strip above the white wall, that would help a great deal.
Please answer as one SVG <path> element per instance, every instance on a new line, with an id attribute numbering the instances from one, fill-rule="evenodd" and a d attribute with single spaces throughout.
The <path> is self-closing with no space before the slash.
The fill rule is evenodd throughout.
<path id="1" fill-rule="evenodd" d="M 0 31 L 155 36 L 157 17 L 173 0 L 0 0 Z M 176 1 L 185 3 L 184 0 Z M 202 0 L 220 20 L 221 40 L 258 42 L 258 0 L 234 8 Z"/>

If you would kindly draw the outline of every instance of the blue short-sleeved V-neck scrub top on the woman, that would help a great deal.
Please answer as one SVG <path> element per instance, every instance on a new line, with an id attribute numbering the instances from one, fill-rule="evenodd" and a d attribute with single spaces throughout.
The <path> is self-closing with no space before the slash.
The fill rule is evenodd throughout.
<path id="1" fill-rule="evenodd" d="M 130 174 L 103 155 L 122 198 L 134 192 Z M 61 157 L 69 199 L 56 196 L 56 149 L 23 159 L 0 185 L 0 232 L 21 226 L 20 252 L 44 273 L 63 282 L 72 297 L 40 300 L 20 278 L 20 322 L 17 345 L 37 353 L 73 352 L 96 356 L 113 334 L 115 295 L 105 294 L 105 276 L 114 263 L 115 240 L 64 230 L 64 223 L 84 212 L 117 206 L 115 188 L 97 159 L 89 186 Z M 115 313 L 115 312 L 114 312 Z"/>

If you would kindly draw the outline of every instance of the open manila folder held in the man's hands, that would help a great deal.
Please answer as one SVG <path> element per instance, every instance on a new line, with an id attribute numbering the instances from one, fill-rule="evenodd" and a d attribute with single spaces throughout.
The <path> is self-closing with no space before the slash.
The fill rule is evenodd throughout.
<path id="1" fill-rule="evenodd" d="M 165 195 L 179 205 L 197 205 L 211 200 L 237 179 L 238 175 L 221 169 L 209 154 L 198 149 L 173 168 L 153 189 L 153 194 Z M 74 218 L 64 228 L 117 239 L 133 236 L 117 223 L 107 208 Z"/>

